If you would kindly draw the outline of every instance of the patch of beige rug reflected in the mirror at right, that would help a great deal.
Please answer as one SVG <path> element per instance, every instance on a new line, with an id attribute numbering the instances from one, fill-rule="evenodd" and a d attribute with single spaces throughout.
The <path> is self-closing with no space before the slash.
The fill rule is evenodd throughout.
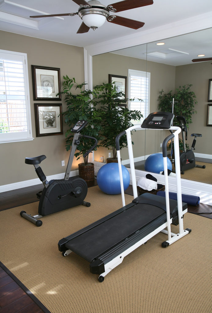
<path id="1" fill-rule="evenodd" d="M 181 174 L 181 178 L 193 180 L 195 182 L 204 182 L 212 184 L 212 163 L 195 162 L 199 165 L 205 165 L 205 168 L 193 167 Z"/>

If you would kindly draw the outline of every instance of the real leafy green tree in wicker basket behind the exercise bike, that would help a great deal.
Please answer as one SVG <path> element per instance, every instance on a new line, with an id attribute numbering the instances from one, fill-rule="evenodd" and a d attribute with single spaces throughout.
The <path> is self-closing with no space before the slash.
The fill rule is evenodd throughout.
<path id="1" fill-rule="evenodd" d="M 65 95 L 65 102 L 67 110 L 62 114 L 64 121 L 68 125 L 66 136 L 66 150 L 71 148 L 73 142 L 73 133 L 71 129 L 78 120 L 88 121 L 87 126 L 82 130 L 82 135 L 95 137 L 98 141 L 101 140 L 99 135 L 101 129 L 101 110 L 96 108 L 95 97 L 91 90 L 84 89 L 86 83 L 77 84 L 75 78 L 69 78 L 68 75 L 63 76 L 63 91 L 61 94 Z M 78 93 L 74 94 L 72 90 L 77 90 Z M 94 142 L 89 138 L 83 137 L 78 145 L 78 150 L 75 153 L 77 160 L 83 157 Z M 98 147 L 98 146 L 97 146 Z M 96 148 L 95 148 L 96 150 Z M 94 180 L 94 164 L 88 162 L 88 155 L 83 157 L 83 163 L 78 164 L 79 176 L 85 181 Z"/>

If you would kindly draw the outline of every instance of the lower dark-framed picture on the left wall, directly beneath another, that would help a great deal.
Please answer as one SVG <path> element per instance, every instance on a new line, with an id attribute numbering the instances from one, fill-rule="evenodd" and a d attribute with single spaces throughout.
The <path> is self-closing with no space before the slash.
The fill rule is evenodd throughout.
<path id="1" fill-rule="evenodd" d="M 63 134 L 62 103 L 35 103 L 36 137 Z"/>

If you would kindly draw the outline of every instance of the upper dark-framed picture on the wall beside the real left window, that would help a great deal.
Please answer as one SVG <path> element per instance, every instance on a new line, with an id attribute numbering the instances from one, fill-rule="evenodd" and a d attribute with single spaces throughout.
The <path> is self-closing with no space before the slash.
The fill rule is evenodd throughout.
<path id="1" fill-rule="evenodd" d="M 32 78 L 34 100 L 61 100 L 59 68 L 32 65 Z"/>

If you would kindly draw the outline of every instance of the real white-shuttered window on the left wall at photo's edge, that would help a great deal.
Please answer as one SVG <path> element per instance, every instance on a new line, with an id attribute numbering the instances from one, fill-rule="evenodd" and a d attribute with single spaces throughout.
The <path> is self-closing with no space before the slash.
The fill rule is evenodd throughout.
<path id="1" fill-rule="evenodd" d="M 0 143 L 33 140 L 27 55 L 0 50 Z"/>

